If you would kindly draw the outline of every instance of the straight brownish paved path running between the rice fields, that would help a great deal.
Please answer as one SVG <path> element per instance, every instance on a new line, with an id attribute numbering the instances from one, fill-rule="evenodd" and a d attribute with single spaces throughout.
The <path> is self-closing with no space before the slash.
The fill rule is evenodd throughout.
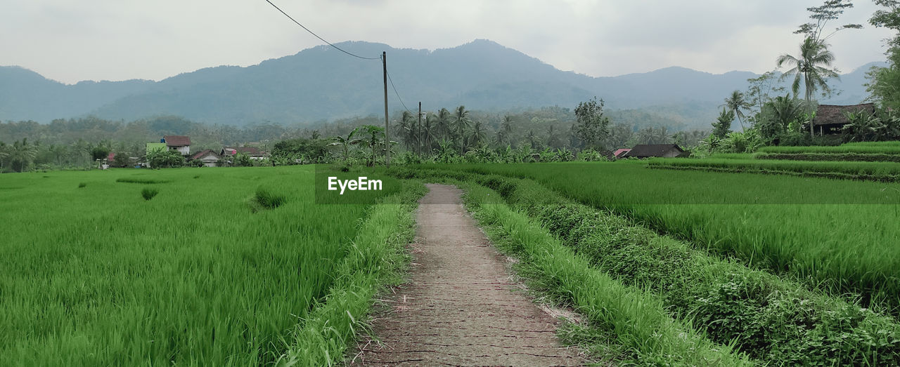
<path id="1" fill-rule="evenodd" d="M 558 321 L 513 283 L 452 186 L 428 185 L 419 201 L 411 281 L 374 322 L 381 344 L 356 364 L 579 365 L 554 334 Z M 447 204 L 453 203 L 453 204 Z"/>

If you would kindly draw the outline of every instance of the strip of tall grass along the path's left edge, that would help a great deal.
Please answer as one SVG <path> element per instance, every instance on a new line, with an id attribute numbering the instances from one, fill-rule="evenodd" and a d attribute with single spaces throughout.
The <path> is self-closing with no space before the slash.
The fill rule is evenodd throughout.
<path id="1" fill-rule="evenodd" d="M 287 352 L 277 365 L 334 365 L 345 358 L 347 345 L 367 328 L 374 295 L 383 286 L 399 284 L 407 263 L 405 246 L 414 236 L 416 201 L 427 192 L 420 182 L 408 182 L 401 194 L 373 205 L 349 253 L 336 274 L 341 276 L 325 301 L 284 341 Z"/>

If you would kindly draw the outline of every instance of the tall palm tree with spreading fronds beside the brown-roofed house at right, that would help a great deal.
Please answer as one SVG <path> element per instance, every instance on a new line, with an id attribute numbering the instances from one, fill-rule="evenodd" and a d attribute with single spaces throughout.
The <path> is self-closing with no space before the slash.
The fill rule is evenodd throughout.
<path id="1" fill-rule="evenodd" d="M 827 79 L 839 78 L 833 69 L 826 67 L 832 66 L 833 61 L 834 55 L 832 51 L 828 50 L 828 46 L 825 45 L 824 41 L 807 37 L 800 44 L 800 54 L 797 57 L 787 54 L 779 56 L 778 66 L 781 67 L 785 64 L 793 66 L 782 77 L 794 74 L 794 83 L 791 84 L 794 95 L 797 95 L 797 92 L 800 90 L 800 79 L 803 78 L 803 83 L 806 87 L 806 108 L 808 109 L 812 105 L 815 90 L 822 88 L 824 92 L 831 92 Z M 812 118 L 809 120 L 809 134 L 815 136 Z"/>

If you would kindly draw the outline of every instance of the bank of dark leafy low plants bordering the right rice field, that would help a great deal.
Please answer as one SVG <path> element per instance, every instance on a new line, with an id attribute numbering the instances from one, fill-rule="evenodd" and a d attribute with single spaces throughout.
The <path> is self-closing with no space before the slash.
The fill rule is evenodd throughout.
<path id="1" fill-rule="evenodd" d="M 504 197 L 575 253 L 626 285 L 660 294 L 666 310 L 713 341 L 735 342 L 761 361 L 900 363 L 900 325 L 839 298 L 708 256 L 626 218 L 574 204 L 527 179 L 482 177 L 513 187 Z M 827 336 L 841 335 L 841 338 Z M 825 337 L 824 337 L 825 336 Z"/>

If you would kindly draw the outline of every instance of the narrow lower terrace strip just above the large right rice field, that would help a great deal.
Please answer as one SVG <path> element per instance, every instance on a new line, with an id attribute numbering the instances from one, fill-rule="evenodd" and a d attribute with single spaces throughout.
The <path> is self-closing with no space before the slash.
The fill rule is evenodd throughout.
<path id="1" fill-rule="evenodd" d="M 709 158 L 655 159 L 647 162 L 651 168 L 714 170 L 724 172 L 756 172 L 789 174 L 830 179 L 866 179 L 896 182 L 900 180 L 900 163 L 895 162 L 801 162 Z"/>

